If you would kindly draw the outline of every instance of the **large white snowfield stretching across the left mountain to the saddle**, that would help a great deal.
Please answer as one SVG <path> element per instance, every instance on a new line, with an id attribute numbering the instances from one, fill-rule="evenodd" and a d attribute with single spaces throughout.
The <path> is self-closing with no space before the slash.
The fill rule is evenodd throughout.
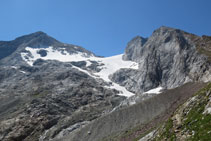
<path id="1" fill-rule="evenodd" d="M 74 66 L 75 68 L 79 69 L 80 71 L 89 74 L 95 78 L 101 78 L 106 82 L 111 82 L 109 79 L 109 75 L 113 74 L 117 70 L 121 68 L 130 68 L 130 69 L 138 69 L 138 64 L 132 61 L 124 61 L 122 60 L 123 54 L 112 56 L 112 57 L 96 57 L 93 55 L 88 55 L 86 53 L 77 52 L 74 54 L 70 54 L 66 51 L 65 48 L 31 48 L 26 47 L 26 52 L 21 53 L 21 57 L 24 61 L 26 61 L 30 66 L 33 66 L 33 63 L 37 59 L 43 60 L 57 60 L 61 62 L 77 62 L 77 61 L 86 61 L 86 66 L 88 67 L 91 65 L 91 61 L 96 61 L 102 66 L 100 66 L 100 71 L 96 73 L 90 73 L 87 70 L 81 69 L 79 67 Z M 41 55 L 39 52 L 45 52 L 44 55 Z M 119 95 L 123 95 L 126 97 L 130 97 L 134 95 L 134 93 L 129 92 L 124 87 L 120 86 L 117 83 L 112 82 L 112 85 L 109 88 L 116 89 L 120 91 Z"/>

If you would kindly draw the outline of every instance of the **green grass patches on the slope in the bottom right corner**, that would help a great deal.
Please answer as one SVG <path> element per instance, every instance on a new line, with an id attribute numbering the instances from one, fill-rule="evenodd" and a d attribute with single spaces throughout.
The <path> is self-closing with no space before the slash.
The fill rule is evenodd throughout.
<path id="1" fill-rule="evenodd" d="M 195 95 L 195 99 L 192 100 L 191 106 L 182 105 L 184 109 L 188 109 L 189 112 L 183 113 L 182 124 L 178 129 L 178 125 L 174 125 L 172 118 L 170 118 L 160 128 L 159 135 L 155 140 L 169 140 L 174 141 L 180 139 L 181 135 L 186 135 L 188 141 L 210 141 L 211 140 L 211 114 L 203 114 L 205 106 L 207 105 L 209 98 L 211 97 L 211 83 L 205 88 L 201 89 Z M 180 107 L 181 108 L 181 107 Z M 184 111 L 184 110 L 183 110 Z M 175 130 L 178 129 L 180 133 L 177 134 Z"/>

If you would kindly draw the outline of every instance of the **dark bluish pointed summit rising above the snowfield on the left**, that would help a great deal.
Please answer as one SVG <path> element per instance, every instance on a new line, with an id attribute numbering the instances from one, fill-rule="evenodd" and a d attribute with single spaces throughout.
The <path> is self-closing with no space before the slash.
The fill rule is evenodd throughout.
<path id="1" fill-rule="evenodd" d="M 65 48 L 65 50 L 70 54 L 83 52 L 87 55 L 94 55 L 82 47 L 61 43 L 44 32 L 35 32 L 16 38 L 13 41 L 1 42 L 0 56 L 2 57 L 0 57 L 0 65 L 26 64 L 26 62 L 23 61 L 22 56 L 20 56 L 20 53 L 27 53 L 26 47 L 48 48 L 49 46 L 53 46 L 55 49 Z M 8 53 L 5 54 L 5 50 L 7 50 Z"/>

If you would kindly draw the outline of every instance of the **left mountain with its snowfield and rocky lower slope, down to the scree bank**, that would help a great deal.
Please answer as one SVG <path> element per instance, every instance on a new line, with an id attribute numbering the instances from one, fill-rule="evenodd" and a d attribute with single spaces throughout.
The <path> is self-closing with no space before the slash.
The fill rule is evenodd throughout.
<path id="1" fill-rule="evenodd" d="M 0 140 L 49 140 L 134 95 L 108 78 L 119 68 L 137 69 L 122 55 L 97 57 L 43 32 L 2 42 L 0 49 L 10 44 L 14 50 L 0 59 Z"/>

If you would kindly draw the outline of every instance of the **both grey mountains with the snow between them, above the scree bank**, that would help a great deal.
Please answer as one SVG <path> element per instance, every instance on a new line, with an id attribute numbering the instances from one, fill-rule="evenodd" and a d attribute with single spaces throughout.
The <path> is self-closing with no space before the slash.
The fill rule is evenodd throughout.
<path id="1" fill-rule="evenodd" d="M 209 47 L 209 36 L 169 27 L 136 36 L 124 54 L 105 58 L 43 32 L 0 42 L 0 140 L 62 139 L 169 89 L 209 82 Z M 146 114 L 156 116 L 150 107 Z"/>

